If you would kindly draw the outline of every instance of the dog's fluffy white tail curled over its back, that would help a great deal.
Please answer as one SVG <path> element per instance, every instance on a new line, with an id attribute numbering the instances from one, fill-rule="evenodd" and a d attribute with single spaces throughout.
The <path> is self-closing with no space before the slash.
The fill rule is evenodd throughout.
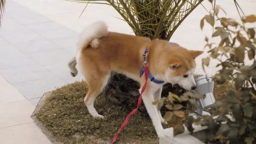
<path id="1" fill-rule="evenodd" d="M 99 44 L 99 38 L 107 36 L 107 24 L 103 21 L 96 21 L 95 23 L 85 27 L 80 33 L 77 41 L 77 53 L 80 53 L 83 48 L 96 48 Z"/>

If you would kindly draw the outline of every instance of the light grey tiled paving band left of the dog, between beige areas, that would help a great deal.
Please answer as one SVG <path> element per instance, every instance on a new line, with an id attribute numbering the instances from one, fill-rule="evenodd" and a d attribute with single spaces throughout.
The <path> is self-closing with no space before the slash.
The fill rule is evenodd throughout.
<path id="1" fill-rule="evenodd" d="M 9 0 L 0 29 L 0 75 L 36 105 L 43 93 L 81 80 L 67 67 L 77 35 Z"/>

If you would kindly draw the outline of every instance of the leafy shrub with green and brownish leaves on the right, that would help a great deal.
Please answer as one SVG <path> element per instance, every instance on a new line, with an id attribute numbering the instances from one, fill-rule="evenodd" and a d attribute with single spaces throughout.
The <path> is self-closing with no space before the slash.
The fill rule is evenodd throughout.
<path id="1" fill-rule="evenodd" d="M 163 102 L 159 101 L 157 105 L 165 104 L 170 110 L 165 113 L 164 118 L 174 122 L 174 135 L 184 132 L 184 123 L 193 136 L 204 142 L 256 143 L 256 28 L 249 27 L 250 23 L 256 22 L 256 15 L 243 17 L 240 24 L 235 19 L 219 17 L 219 10 L 219 6 L 214 7 L 213 13 L 200 21 L 200 27 L 203 29 L 205 21 L 212 27 L 220 25 L 214 28 L 212 34 L 219 43 L 210 42 L 205 37 L 205 48 L 209 49 L 209 56 L 202 59 L 203 68 L 215 59 L 218 61 L 216 67 L 220 69 L 213 78 L 215 83 L 223 84 L 227 80 L 235 83 L 235 91 L 229 91 L 226 99 L 211 105 L 211 109 L 219 110 L 220 115 L 197 119 L 184 117 L 184 112 L 181 111 L 183 106 L 179 102 L 190 101 L 193 104 L 195 99 L 201 98 L 189 92 L 181 97 L 170 93 L 168 98 L 163 98 Z M 173 104 L 174 99 L 179 101 L 178 104 Z M 207 128 L 193 133 L 192 124 Z"/>

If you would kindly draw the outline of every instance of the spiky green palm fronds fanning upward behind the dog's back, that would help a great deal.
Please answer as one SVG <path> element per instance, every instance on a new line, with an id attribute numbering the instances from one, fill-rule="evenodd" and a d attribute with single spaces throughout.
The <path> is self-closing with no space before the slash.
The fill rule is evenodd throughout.
<path id="1" fill-rule="evenodd" d="M 135 35 L 170 40 L 182 21 L 203 0 L 69 0 L 111 5 Z"/>

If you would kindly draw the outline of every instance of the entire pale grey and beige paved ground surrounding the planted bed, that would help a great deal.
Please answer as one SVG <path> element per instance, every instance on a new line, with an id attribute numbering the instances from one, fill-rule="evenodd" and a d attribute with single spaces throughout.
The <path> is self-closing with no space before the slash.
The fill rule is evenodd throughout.
<path id="1" fill-rule="evenodd" d="M 203 2 L 210 8 L 207 0 Z M 240 19 L 232 0 L 218 4 L 228 16 Z M 256 1 L 240 4 L 245 14 L 255 13 Z M 0 144 L 50 144 L 30 118 L 43 93 L 81 80 L 69 75 L 67 61 L 75 54 L 78 33 L 84 26 L 104 20 L 110 31 L 132 34 L 131 28 L 106 5 L 88 5 L 65 0 L 8 0 L 0 29 Z M 172 42 L 193 50 L 203 50 L 204 34 L 200 19 L 207 14 L 202 6 L 176 30 Z M 203 73 L 200 56 L 197 73 Z M 214 61 L 207 73 L 214 74 Z"/>

